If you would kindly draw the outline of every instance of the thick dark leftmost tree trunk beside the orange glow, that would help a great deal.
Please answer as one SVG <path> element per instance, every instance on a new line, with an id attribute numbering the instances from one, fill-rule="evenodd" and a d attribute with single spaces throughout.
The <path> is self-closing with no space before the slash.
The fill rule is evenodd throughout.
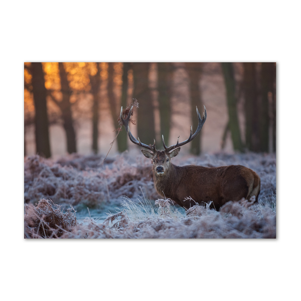
<path id="1" fill-rule="evenodd" d="M 33 98 L 36 110 L 36 152 L 40 156 L 49 158 L 49 130 L 46 106 L 47 91 L 45 88 L 44 72 L 42 63 L 31 63 Z"/>

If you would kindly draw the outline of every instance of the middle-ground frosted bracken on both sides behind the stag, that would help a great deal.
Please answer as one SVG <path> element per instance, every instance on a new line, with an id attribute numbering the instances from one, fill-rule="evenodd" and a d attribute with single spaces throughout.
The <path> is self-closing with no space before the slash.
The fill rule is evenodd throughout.
<path id="1" fill-rule="evenodd" d="M 39 156 L 24 159 L 24 201 L 35 204 L 42 198 L 50 198 L 57 204 L 71 203 L 97 207 L 102 202 L 117 200 L 125 195 L 156 200 L 160 196 L 150 178 L 151 162 L 142 154 L 121 154 L 106 159 L 101 156 L 69 155 L 58 161 Z M 275 154 L 214 154 L 181 156 L 173 158 L 176 165 L 201 165 L 208 167 L 241 164 L 258 173 L 261 178 L 259 198 L 266 202 L 276 191 Z M 150 173 L 149 173 L 150 172 Z"/>

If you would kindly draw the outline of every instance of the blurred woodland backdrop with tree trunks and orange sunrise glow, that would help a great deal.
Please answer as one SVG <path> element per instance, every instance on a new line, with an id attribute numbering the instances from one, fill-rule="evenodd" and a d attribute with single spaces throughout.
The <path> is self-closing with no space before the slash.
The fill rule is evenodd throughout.
<path id="1" fill-rule="evenodd" d="M 107 153 L 120 107 L 133 98 L 131 131 L 143 143 L 187 139 L 195 106 L 202 115 L 205 104 L 207 121 L 187 152 L 276 151 L 276 63 L 45 62 L 24 63 L 24 155 Z M 112 152 L 133 147 L 123 129 Z"/>

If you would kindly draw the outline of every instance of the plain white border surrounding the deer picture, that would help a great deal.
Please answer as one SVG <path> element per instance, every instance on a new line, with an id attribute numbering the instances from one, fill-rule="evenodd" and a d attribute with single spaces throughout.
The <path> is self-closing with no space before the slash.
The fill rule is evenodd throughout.
<path id="1" fill-rule="evenodd" d="M 257 0 L 2 4 L 6 299 L 296 299 L 299 6 Z M 79 60 L 276 61 L 277 239 L 24 240 L 23 62 Z"/>

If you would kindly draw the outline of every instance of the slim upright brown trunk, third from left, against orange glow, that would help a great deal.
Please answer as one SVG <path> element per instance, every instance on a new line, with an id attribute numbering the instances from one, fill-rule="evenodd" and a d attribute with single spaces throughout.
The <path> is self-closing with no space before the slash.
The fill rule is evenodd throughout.
<path id="1" fill-rule="evenodd" d="M 92 150 L 94 154 L 98 153 L 98 110 L 99 110 L 99 87 L 100 87 L 100 68 L 97 64 L 97 73 L 90 76 L 91 92 L 93 94 L 92 107 Z"/>

